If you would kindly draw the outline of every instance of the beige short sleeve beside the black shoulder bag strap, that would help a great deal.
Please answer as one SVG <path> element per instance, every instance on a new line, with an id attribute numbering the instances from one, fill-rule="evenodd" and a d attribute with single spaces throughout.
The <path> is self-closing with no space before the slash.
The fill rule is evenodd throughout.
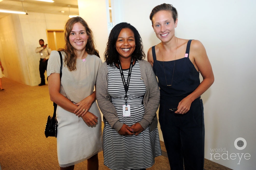
<path id="1" fill-rule="evenodd" d="M 64 59 L 63 52 L 62 54 L 62 60 Z M 51 75 L 51 73 L 60 73 L 60 55 L 58 51 L 52 51 L 50 58 L 48 60 L 47 64 L 47 77 Z"/>

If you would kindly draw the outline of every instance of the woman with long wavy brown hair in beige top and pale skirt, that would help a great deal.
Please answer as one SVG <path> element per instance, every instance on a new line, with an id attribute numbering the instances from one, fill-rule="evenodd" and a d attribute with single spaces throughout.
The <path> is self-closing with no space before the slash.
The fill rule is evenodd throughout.
<path id="1" fill-rule="evenodd" d="M 102 151 L 101 115 L 96 100 L 96 76 L 102 64 L 95 49 L 93 33 L 81 17 L 70 18 L 65 25 L 65 45 L 60 55 L 52 51 L 48 66 L 50 99 L 58 107 L 57 153 L 60 169 L 88 160 L 87 169 L 98 169 Z"/>

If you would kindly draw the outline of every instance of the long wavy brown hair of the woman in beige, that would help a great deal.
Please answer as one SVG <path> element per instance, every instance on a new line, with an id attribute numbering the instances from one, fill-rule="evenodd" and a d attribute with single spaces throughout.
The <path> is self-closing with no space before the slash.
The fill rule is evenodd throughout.
<path id="1" fill-rule="evenodd" d="M 92 30 L 89 28 L 87 22 L 81 17 L 70 18 L 67 21 L 66 25 L 65 25 L 65 30 L 64 30 L 65 44 L 64 44 L 64 47 L 58 49 L 58 51 L 64 51 L 66 53 L 64 62 L 67 65 L 69 71 L 75 71 L 76 70 L 77 56 L 74 53 L 74 51 L 75 51 L 74 47 L 72 47 L 70 42 L 69 42 L 69 35 L 70 35 L 70 32 L 73 28 L 73 25 L 77 22 L 80 22 L 85 27 L 86 33 L 89 36 L 89 38 L 87 40 L 86 47 L 85 47 L 86 52 L 88 54 L 92 54 L 92 55 L 94 54 L 94 55 L 97 55 L 98 57 L 100 57 L 99 51 L 95 49 L 93 33 L 92 33 Z"/>

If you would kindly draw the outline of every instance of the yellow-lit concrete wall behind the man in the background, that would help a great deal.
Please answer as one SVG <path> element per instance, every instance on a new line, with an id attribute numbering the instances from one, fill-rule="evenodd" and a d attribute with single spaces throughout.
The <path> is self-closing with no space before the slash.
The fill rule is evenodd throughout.
<path id="1" fill-rule="evenodd" d="M 5 77 L 35 86 L 40 83 L 39 39 L 47 43 L 46 29 L 64 29 L 69 19 L 65 15 L 29 13 L 10 14 L 0 19 L 2 54 Z"/>

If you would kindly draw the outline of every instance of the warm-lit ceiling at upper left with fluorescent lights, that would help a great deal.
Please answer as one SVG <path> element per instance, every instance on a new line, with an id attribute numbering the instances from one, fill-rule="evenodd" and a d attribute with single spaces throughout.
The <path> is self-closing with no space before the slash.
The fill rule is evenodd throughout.
<path id="1" fill-rule="evenodd" d="M 18 11 L 36 12 L 36 13 L 47 13 L 47 14 L 70 14 L 79 15 L 77 0 L 54 0 L 54 3 L 35 1 L 35 0 L 0 0 L 0 9 L 7 10 L 18 10 Z M 64 11 L 64 13 L 61 13 Z M 10 13 L 0 13 L 0 18 L 9 15 Z"/>

